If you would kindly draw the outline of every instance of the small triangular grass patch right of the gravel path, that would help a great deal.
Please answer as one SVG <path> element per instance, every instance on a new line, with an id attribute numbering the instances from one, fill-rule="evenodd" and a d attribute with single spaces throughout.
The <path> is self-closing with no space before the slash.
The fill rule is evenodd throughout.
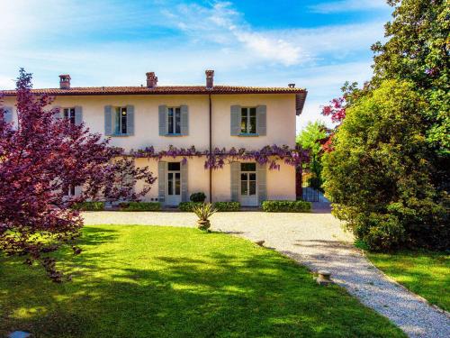
<path id="1" fill-rule="evenodd" d="M 450 311 L 450 255 L 445 252 L 367 253 L 384 273 L 415 294 Z"/>

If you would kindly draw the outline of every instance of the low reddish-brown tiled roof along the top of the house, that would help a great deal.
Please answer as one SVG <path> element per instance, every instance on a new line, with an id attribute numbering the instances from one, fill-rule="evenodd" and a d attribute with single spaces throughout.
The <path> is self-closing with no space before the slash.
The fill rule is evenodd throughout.
<path id="1" fill-rule="evenodd" d="M 295 87 L 159 86 L 148 87 L 71 87 L 69 89 L 32 89 L 36 95 L 97 96 L 97 95 L 183 95 L 183 94 L 295 94 L 297 114 L 302 113 L 307 91 Z M 0 90 L 0 96 L 15 96 L 15 90 Z"/>

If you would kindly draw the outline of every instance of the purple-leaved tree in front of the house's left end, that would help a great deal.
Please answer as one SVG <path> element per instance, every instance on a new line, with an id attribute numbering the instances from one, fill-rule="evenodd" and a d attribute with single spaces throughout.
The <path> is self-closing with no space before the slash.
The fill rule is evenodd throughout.
<path id="1" fill-rule="evenodd" d="M 17 80 L 18 124 L 6 123 L 0 105 L 0 251 L 38 261 L 55 281 L 62 279 L 49 253 L 72 245 L 83 219 L 72 209 L 87 198 L 137 199 L 155 181 L 148 168 L 136 169 L 133 159 L 110 147 L 109 140 L 85 125 L 58 118 L 48 109 L 52 98 L 31 93 L 31 74 Z M 148 187 L 132 187 L 143 179 Z M 68 187 L 83 187 L 81 196 L 66 196 Z"/>

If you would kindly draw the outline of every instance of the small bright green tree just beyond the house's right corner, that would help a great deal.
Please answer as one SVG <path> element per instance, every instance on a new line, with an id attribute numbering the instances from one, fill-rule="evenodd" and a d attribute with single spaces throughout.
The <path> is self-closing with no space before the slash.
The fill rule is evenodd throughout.
<path id="1" fill-rule="evenodd" d="M 329 130 L 325 124 L 316 121 L 308 123 L 302 132 L 297 135 L 297 144 L 310 153 L 310 161 L 305 163 L 304 166 L 310 169 L 312 174 L 309 180 L 310 186 L 317 189 L 321 189 L 322 185 L 321 154 L 323 151 L 321 143 L 327 140 L 328 134 Z"/>

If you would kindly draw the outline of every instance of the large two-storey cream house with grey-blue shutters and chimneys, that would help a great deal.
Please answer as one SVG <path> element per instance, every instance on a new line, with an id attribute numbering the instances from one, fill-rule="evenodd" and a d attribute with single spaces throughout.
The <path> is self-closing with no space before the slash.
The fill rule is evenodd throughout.
<path id="1" fill-rule="evenodd" d="M 207 70 L 205 86 L 166 87 L 149 72 L 147 86 L 71 87 L 70 76 L 61 75 L 59 88 L 33 92 L 55 96 L 53 105 L 72 123 L 83 122 L 111 137 L 112 145 L 139 153 L 135 165 L 157 176 L 148 201 L 175 206 L 194 192 L 242 206 L 294 200 L 295 117 L 307 92 L 293 84 L 215 86 L 213 77 Z M 15 92 L 3 95 L 6 116 L 14 121 Z"/>

